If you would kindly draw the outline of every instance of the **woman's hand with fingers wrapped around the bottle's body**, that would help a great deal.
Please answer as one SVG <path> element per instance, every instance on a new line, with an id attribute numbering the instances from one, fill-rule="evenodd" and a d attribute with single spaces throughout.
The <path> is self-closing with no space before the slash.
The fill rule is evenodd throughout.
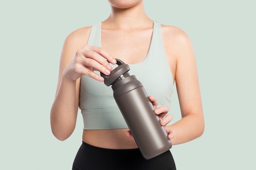
<path id="1" fill-rule="evenodd" d="M 174 137 L 173 130 L 166 128 L 166 125 L 173 119 L 173 116 L 170 114 L 166 116 L 166 114 L 169 111 L 169 108 L 167 106 L 160 106 L 159 108 L 157 108 L 157 100 L 155 99 L 155 97 L 148 96 L 148 98 L 150 99 L 150 101 L 152 102 L 152 104 L 155 108 L 155 114 L 158 115 L 161 125 L 164 126 L 166 132 L 168 133 L 168 138 L 170 140 L 173 139 L 173 137 Z M 126 135 L 128 137 L 132 137 L 130 130 L 128 130 L 126 132 Z"/>

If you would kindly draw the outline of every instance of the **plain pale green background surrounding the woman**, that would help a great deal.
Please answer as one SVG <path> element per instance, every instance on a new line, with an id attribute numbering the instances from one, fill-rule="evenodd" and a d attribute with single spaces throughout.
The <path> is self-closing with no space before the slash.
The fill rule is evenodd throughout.
<path id="1" fill-rule="evenodd" d="M 173 146 L 178 170 L 254 170 L 254 0 L 145 0 L 148 16 L 184 30 L 193 43 L 205 116 L 202 137 Z M 81 145 L 52 135 L 59 57 L 66 36 L 105 20 L 107 0 L 0 2 L 0 169 L 70 170 Z M 173 121 L 180 119 L 177 93 Z"/>

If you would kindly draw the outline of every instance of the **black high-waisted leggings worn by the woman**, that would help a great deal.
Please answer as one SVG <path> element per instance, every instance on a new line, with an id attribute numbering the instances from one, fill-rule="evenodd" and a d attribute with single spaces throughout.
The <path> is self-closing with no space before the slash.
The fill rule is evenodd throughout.
<path id="1" fill-rule="evenodd" d="M 72 170 L 176 170 L 176 167 L 169 150 L 146 160 L 139 149 L 104 149 L 83 142 Z"/>

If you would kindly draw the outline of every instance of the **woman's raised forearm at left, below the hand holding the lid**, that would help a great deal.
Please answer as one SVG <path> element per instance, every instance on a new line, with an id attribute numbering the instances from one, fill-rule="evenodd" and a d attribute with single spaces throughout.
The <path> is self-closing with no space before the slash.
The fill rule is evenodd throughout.
<path id="1" fill-rule="evenodd" d="M 51 109 L 51 128 L 57 139 L 65 140 L 74 131 L 76 107 L 76 81 L 63 76 Z"/>

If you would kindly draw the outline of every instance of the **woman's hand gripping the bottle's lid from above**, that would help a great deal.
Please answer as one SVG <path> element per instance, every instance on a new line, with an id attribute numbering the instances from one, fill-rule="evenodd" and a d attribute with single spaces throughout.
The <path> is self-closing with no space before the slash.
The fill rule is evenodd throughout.
<path id="1" fill-rule="evenodd" d="M 87 75 L 103 82 L 104 78 L 94 73 L 94 71 L 100 71 L 105 75 L 109 75 L 110 71 L 112 71 L 112 66 L 110 66 L 107 60 L 111 64 L 117 63 L 115 58 L 101 47 L 86 45 L 76 51 L 72 61 L 65 68 L 63 76 L 76 81 L 81 75 Z"/>

